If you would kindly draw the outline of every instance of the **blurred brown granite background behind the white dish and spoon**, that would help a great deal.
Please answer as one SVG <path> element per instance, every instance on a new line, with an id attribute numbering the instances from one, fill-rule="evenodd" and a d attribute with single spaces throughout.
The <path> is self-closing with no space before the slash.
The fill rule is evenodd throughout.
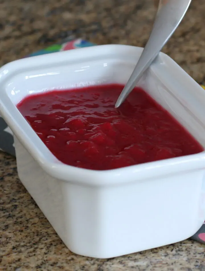
<path id="1" fill-rule="evenodd" d="M 0 65 L 68 36 L 143 46 L 154 14 L 153 0 L 1 0 Z M 198 82 L 205 70 L 204 14 L 204 0 L 192 0 L 163 49 Z"/>

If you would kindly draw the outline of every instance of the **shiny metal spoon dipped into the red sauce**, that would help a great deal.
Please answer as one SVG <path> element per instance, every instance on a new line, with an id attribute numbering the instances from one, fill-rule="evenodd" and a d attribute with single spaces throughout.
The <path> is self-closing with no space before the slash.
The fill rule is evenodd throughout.
<path id="1" fill-rule="evenodd" d="M 160 0 L 149 40 L 130 79 L 122 90 L 115 107 L 118 108 L 136 86 L 144 71 L 157 57 L 183 19 L 191 0 Z"/>

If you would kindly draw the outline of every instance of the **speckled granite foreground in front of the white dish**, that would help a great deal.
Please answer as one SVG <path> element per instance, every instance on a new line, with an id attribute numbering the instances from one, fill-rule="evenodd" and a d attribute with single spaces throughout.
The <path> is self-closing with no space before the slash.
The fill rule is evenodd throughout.
<path id="1" fill-rule="evenodd" d="M 20 183 L 15 159 L 2 152 L 0 176 L 0 270 L 205 270 L 205 246 L 191 240 L 108 260 L 75 255 Z"/>

